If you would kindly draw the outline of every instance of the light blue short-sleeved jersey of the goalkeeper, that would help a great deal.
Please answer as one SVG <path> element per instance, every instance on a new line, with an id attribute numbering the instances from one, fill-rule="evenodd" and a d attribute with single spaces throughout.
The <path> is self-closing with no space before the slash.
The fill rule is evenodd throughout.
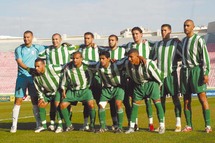
<path id="1" fill-rule="evenodd" d="M 27 67 L 34 68 L 35 60 L 44 49 L 45 47 L 42 45 L 32 44 L 31 47 L 20 45 L 15 49 L 15 59 L 21 59 Z M 31 76 L 27 70 L 18 65 L 18 76 L 20 75 Z"/>

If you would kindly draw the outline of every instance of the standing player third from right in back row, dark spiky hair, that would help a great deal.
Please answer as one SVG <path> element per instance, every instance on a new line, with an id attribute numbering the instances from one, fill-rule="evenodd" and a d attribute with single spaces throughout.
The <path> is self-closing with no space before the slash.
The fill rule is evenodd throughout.
<path id="1" fill-rule="evenodd" d="M 127 51 L 130 49 L 137 49 L 139 51 L 139 55 L 143 56 L 146 59 L 152 59 L 152 44 L 148 41 L 143 42 L 143 31 L 139 27 L 134 27 L 131 30 L 132 32 L 132 37 L 134 42 L 130 42 L 127 44 Z M 130 94 L 133 93 L 132 87 L 132 81 L 128 83 L 128 87 L 131 90 Z M 151 105 L 151 100 L 149 98 L 145 99 L 145 104 L 146 104 L 146 112 L 148 115 L 149 119 L 149 131 L 154 131 L 154 126 L 153 126 L 153 116 L 152 116 L 152 105 Z M 138 118 L 136 119 L 136 126 L 135 129 L 138 130 L 137 123 L 138 123 Z"/>

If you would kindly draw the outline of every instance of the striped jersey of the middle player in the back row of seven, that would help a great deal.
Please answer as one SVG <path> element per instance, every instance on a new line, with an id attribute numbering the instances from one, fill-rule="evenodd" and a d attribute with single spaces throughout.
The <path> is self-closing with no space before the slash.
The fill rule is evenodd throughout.
<path id="1" fill-rule="evenodd" d="M 118 46 L 114 50 L 110 49 L 109 52 L 110 52 L 110 58 L 116 59 L 116 60 L 120 60 L 120 59 L 124 58 L 125 54 L 126 54 L 125 48 L 120 47 L 120 46 Z"/>

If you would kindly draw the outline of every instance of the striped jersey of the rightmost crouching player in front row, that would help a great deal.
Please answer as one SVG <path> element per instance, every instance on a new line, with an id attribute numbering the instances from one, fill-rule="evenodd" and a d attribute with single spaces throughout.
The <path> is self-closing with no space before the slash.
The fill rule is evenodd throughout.
<path id="1" fill-rule="evenodd" d="M 129 60 L 125 60 L 124 66 L 126 73 L 137 84 L 142 84 L 148 81 L 155 81 L 163 84 L 162 72 L 157 68 L 154 61 L 147 59 L 146 64 L 140 63 L 139 65 L 133 65 Z"/>

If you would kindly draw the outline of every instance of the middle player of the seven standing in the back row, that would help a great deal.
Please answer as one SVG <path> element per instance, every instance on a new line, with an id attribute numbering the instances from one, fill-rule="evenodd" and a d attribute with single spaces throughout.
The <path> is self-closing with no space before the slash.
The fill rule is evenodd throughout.
<path id="1" fill-rule="evenodd" d="M 109 51 L 110 51 L 110 58 L 114 59 L 114 60 L 120 60 L 122 58 L 125 57 L 125 49 L 121 46 L 118 46 L 118 37 L 116 35 L 110 35 L 108 38 L 108 43 L 109 43 Z M 121 84 L 123 85 L 124 90 L 127 90 L 127 88 L 125 88 L 126 86 L 126 76 L 125 76 L 125 72 L 123 72 L 121 74 Z M 126 92 L 127 93 L 127 92 Z M 129 94 L 125 94 L 123 103 L 125 105 L 125 111 L 126 111 L 126 115 L 127 115 L 127 119 L 128 122 L 130 122 L 130 116 L 131 116 L 131 105 L 130 105 L 130 100 L 129 100 Z M 113 120 L 113 126 L 112 129 L 117 129 L 117 113 L 116 113 L 116 109 L 115 109 L 115 101 L 110 101 L 110 104 L 112 104 L 110 106 L 111 109 L 111 116 L 112 116 L 112 120 Z"/>

